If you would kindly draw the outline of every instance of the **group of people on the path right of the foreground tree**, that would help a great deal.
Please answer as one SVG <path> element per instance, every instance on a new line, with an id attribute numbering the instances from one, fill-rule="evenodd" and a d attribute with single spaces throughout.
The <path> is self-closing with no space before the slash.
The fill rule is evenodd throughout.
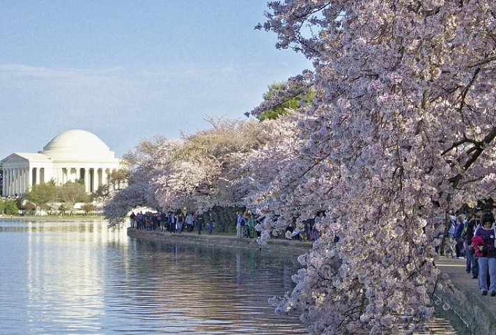
<path id="1" fill-rule="evenodd" d="M 479 279 L 482 295 L 496 297 L 495 209 L 475 208 L 451 217 L 449 237 L 454 257 L 465 258 L 465 271 Z"/>

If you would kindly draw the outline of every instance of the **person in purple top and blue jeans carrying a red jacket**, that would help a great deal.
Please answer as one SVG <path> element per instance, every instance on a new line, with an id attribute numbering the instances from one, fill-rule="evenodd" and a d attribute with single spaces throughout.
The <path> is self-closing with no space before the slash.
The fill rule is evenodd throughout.
<path id="1" fill-rule="evenodd" d="M 477 229 L 472 239 L 475 256 L 479 257 L 479 287 L 482 295 L 487 295 L 490 290 L 491 297 L 496 296 L 496 228 L 494 223 L 493 213 L 485 212 L 482 215 L 482 226 Z"/>

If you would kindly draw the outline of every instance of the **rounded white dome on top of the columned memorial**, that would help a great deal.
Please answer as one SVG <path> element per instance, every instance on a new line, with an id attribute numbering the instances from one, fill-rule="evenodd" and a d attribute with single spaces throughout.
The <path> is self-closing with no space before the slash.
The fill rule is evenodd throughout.
<path id="1" fill-rule="evenodd" d="M 73 129 L 49 141 L 39 153 L 55 159 L 78 161 L 114 159 L 114 152 L 98 136 L 86 130 Z"/>

